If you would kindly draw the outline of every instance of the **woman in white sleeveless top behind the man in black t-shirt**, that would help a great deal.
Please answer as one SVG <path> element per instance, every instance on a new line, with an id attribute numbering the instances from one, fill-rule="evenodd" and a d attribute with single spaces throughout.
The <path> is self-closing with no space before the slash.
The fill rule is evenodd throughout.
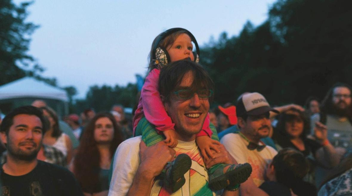
<path id="1" fill-rule="evenodd" d="M 43 144 L 60 150 L 64 155 L 66 164 L 69 164 L 73 153 L 72 142 L 69 136 L 60 130 L 58 117 L 53 109 L 50 107 L 42 107 L 41 109 L 49 121 L 49 129 L 44 134 Z"/>

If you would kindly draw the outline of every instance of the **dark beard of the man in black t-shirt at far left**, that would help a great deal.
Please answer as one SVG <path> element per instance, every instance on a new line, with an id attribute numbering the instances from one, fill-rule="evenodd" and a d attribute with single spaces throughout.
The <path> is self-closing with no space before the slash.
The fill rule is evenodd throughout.
<path id="1" fill-rule="evenodd" d="M 26 142 L 29 142 L 29 141 L 26 141 Z M 19 145 L 20 144 L 21 143 L 19 143 Z M 37 158 L 38 152 L 39 152 L 40 148 L 42 147 L 42 142 L 40 142 L 38 146 L 34 142 L 33 142 L 33 144 L 34 144 L 35 149 L 28 153 L 28 152 L 25 152 L 25 151 L 23 151 L 22 149 L 20 149 L 18 147 L 16 148 L 14 146 L 14 144 L 11 142 L 11 140 L 8 140 L 7 144 L 6 144 L 7 153 L 11 157 L 16 158 L 17 160 L 33 161 L 34 159 Z"/>

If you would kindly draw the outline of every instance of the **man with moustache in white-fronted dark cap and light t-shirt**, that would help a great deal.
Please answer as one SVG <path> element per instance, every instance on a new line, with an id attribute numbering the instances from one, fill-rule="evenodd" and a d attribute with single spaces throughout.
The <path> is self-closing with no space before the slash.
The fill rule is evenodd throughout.
<path id="1" fill-rule="evenodd" d="M 237 126 L 239 131 L 224 135 L 221 143 L 238 163 L 250 163 L 253 171 L 247 181 L 259 187 L 264 182 L 265 168 L 277 151 L 266 146 L 261 138 L 268 137 L 271 130 L 270 107 L 265 97 L 259 93 L 244 94 L 237 102 Z M 241 188 L 242 187 L 242 188 Z M 241 185 L 240 190 L 246 188 Z"/>

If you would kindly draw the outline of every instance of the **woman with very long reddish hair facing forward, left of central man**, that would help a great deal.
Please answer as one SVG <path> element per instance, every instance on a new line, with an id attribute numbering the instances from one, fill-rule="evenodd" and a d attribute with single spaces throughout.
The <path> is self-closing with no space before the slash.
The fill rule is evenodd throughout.
<path id="1" fill-rule="evenodd" d="M 108 173 L 116 148 L 122 142 L 120 127 L 113 115 L 101 113 L 88 123 L 70 170 L 80 182 L 84 195 L 106 196 Z"/>

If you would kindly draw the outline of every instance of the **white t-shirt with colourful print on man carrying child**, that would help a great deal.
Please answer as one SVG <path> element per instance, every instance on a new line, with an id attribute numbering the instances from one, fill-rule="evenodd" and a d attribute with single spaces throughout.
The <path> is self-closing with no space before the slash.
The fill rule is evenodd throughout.
<path id="1" fill-rule="evenodd" d="M 116 150 L 113 163 L 113 174 L 110 183 L 109 196 L 126 195 L 136 175 L 139 160 L 139 143 L 142 137 L 132 137 L 122 142 Z M 186 183 L 181 189 L 171 194 L 162 187 L 162 181 L 156 180 L 150 195 L 215 195 L 208 186 L 208 173 L 195 141 L 178 140 L 176 155 L 185 153 L 192 159 L 190 170 L 184 175 Z M 152 167 L 152 165 L 151 165 Z"/>

